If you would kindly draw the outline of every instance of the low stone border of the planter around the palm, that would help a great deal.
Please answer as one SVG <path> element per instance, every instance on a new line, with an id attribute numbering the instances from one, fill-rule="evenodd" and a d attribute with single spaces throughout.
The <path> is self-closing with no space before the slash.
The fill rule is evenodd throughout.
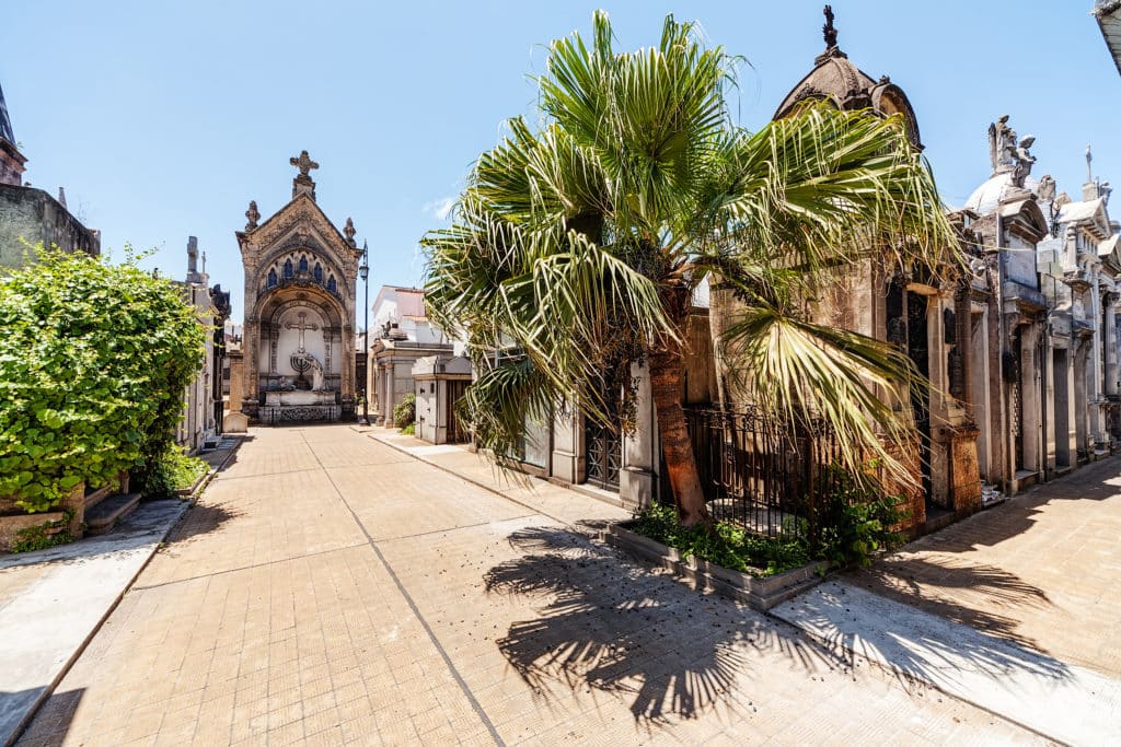
<path id="1" fill-rule="evenodd" d="M 694 555 L 682 557 L 676 549 L 630 531 L 634 522 L 612 524 L 600 539 L 639 560 L 648 561 L 674 571 L 687 579 L 693 588 L 714 591 L 723 597 L 767 610 L 802 594 L 822 581 L 830 563 L 819 560 L 781 573 L 759 578 L 750 573 L 721 568 Z M 759 571 L 762 573 L 762 571 Z"/>

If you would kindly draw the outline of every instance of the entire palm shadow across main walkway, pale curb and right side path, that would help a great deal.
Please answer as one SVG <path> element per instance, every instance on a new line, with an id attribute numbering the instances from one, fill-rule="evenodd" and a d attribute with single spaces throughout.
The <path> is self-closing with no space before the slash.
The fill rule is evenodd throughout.
<path id="1" fill-rule="evenodd" d="M 694 719 L 717 706 L 731 715 L 745 713 L 753 706 L 743 685 L 761 674 L 752 664 L 776 652 L 807 679 L 826 671 L 851 675 L 862 665 L 854 652 L 865 653 L 886 661 L 908 691 L 939 681 L 963 657 L 995 675 L 1071 676 L 1066 664 L 1036 651 L 1030 641 L 1012 637 L 1011 622 L 997 616 L 967 620 L 969 610 L 954 609 L 952 603 L 939 610 L 943 617 L 990 634 L 999 631 L 1004 639 L 899 629 L 890 631 L 883 643 L 872 643 L 860 627 L 815 638 L 729 599 L 707 597 L 659 569 L 593 544 L 578 530 L 530 527 L 511 534 L 509 542 L 522 554 L 485 573 L 487 591 L 526 597 L 538 615 L 511 624 L 497 639 L 507 661 L 535 698 L 547 699 L 549 685 L 557 682 L 573 691 L 612 693 L 629 699 L 634 720 L 648 727 Z M 1041 591 L 998 569 L 982 569 L 962 582 L 1009 599 L 1049 604 Z M 789 604 L 805 604 L 808 597 L 802 599 Z M 826 604 L 843 607 L 845 600 Z M 863 651 L 876 645 L 881 651 Z"/>

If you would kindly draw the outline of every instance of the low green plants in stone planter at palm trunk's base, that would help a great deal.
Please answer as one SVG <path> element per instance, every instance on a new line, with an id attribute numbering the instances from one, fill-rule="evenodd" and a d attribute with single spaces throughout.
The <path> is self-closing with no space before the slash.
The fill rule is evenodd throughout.
<path id="1" fill-rule="evenodd" d="M 683 555 L 696 555 L 756 576 L 773 576 L 809 562 L 799 540 L 759 536 L 730 522 L 716 522 L 712 531 L 700 525 L 682 526 L 674 506 L 655 504 L 636 512 L 631 531 L 675 548 Z"/>

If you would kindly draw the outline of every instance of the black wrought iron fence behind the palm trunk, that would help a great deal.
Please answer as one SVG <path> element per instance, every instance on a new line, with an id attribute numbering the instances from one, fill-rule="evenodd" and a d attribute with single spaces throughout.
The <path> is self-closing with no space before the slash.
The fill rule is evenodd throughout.
<path id="1" fill-rule="evenodd" d="M 708 511 L 771 538 L 819 539 L 836 440 L 823 428 L 791 429 L 758 410 L 686 408 Z"/>

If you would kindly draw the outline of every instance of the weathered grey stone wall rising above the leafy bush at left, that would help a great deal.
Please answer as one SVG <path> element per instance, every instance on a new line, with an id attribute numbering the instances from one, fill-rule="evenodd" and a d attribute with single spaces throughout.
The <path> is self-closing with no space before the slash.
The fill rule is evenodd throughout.
<path id="1" fill-rule="evenodd" d="M 0 267 L 19 268 L 27 246 L 43 242 L 66 252 L 101 253 L 101 234 L 86 228 L 54 197 L 31 187 L 0 184 Z"/>

